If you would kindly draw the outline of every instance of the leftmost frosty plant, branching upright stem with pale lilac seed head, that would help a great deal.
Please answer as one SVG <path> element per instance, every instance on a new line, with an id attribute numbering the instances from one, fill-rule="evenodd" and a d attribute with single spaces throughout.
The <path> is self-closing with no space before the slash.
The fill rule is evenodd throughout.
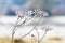
<path id="1" fill-rule="evenodd" d="M 16 30 L 18 29 L 18 27 L 21 27 L 22 25 L 24 25 L 25 23 L 27 23 L 28 20 L 31 19 L 31 18 L 29 18 L 29 15 L 27 15 L 27 14 L 25 14 L 25 13 L 22 13 L 21 10 L 17 10 L 15 13 L 16 13 L 16 15 L 17 15 L 17 20 L 16 20 L 16 23 L 15 23 L 15 26 L 14 26 L 13 30 L 12 30 L 12 43 L 13 43 L 13 39 L 14 39 L 14 33 L 16 32 Z M 26 16 L 26 15 L 27 15 L 27 16 Z M 20 23 L 20 22 L 22 20 L 22 18 L 24 18 L 24 17 L 26 17 L 25 20 L 18 25 L 18 23 Z"/>

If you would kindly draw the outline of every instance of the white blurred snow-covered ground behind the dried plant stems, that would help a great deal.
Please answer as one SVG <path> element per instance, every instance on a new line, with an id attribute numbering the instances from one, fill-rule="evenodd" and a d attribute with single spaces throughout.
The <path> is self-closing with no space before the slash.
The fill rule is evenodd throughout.
<path id="1" fill-rule="evenodd" d="M 11 37 L 13 26 L 16 22 L 16 16 L 0 16 L 0 37 Z M 15 33 L 15 37 L 22 37 L 26 34 L 38 22 L 39 17 L 35 17 L 24 26 L 20 27 Z M 50 26 L 53 28 L 52 31 L 49 31 L 47 37 L 64 37 L 65 35 L 65 16 L 53 16 L 53 17 L 44 17 L 38 27 Z M 31 33 L 36 31 L 34 30 Z M 42 35 L 42 31 L 39 29 L 40 35 Z"/>

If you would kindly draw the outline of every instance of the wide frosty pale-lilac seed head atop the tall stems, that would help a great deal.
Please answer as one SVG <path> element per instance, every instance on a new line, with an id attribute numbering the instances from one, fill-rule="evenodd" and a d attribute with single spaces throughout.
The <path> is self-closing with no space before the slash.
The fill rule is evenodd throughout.
<path id="1" fill-rule="evenodd" d="M 15 14 L 17 15 L 17 16 L 43 16 L 43 17 L 46 17 L 46 16 L 49 16 L 49 14 L 46 12 L 46 11 L 43 11 L 43 10 L 40 10 L 40 9 L 34 9 L 34 10 L 28 10 L 28 11 L 25 11 L 25 12 L 23 12 L 22 10 L 20 10 L 20 9 L 17 9 L 16 11 L 15 11 Z"/>

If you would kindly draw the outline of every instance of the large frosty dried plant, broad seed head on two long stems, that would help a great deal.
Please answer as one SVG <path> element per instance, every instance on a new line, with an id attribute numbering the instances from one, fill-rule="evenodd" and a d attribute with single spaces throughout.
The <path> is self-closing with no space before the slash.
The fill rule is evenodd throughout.
<path id="1" fill-rule="evenodd" d="M 40 16 L 40 19 L 37 22 L 37 24 L 34 26 L 34 28 L 27 33 L 27 34 L 29 34 L 38 26 L 38 24 L 41 22 L 42 17 L 44 17 L 44 15 L 46 15 L 44 11 L 41 11 L 41 10 L 38 10 L 38 9 L 35 9 L 34 11 L 29 10 L 29 11 L 26 11 L 26 12 L 22 12 L 22 10 L 16 10 L 15 13 L 17 15 L 17 20 L 15 23 L 15 26 L 14 26 L 13 30 L 12 30 L 12 43 L 13 43 L 13 39 L 14 39 L 14 34 L 15 34 L 16 30 L 22 25 L 24 25 L 25 23 L 30 20 L 35 15 Z M 24 17 L 26 17 L 25 20 L 23 23 L 18 24 L 22 20 L 22 18 L 24 18 Z M 25 38 L 27 34 L 23 35 L 23 38 Z"/>

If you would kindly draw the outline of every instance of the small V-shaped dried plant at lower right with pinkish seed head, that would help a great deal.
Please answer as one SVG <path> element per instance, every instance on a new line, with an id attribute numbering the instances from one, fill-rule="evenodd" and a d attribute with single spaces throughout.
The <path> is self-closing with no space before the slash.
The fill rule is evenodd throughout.
<path id="1" fill-rule="evenodd" d="M 44 32 L 43 35 L 40 39 L 40 32 L 38 31 L 38 28 L 35 28 L 37 34 L 38 34 L 38 43 L 41 43 L 41 41 L 44 39 L 48 31 L 53 30 L 51 27 L 42 27 L 41 30 Z"/>

